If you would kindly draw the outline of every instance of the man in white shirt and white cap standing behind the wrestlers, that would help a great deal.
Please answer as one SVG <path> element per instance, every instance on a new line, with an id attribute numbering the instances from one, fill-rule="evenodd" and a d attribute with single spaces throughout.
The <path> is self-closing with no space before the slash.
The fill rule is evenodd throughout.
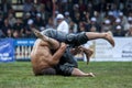
<path id="1" fill-rule="evenodd" d="M 58 22 L 57 31 L 69 33 L 69 26 L 68 26 L 67 22 L 64 20 L 64 15 L 57 14 L 56 19 Z"/>

